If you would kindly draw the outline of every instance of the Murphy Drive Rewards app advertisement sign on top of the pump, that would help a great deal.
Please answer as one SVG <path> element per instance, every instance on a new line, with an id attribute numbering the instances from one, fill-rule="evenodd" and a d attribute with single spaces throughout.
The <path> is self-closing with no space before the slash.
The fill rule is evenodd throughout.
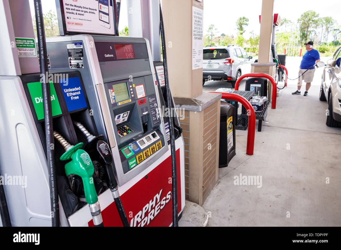
<path id="1" fill-rule="evenodd" d="M 61 0 L 67 32 L 115 35 L 113 0 Z"/>

